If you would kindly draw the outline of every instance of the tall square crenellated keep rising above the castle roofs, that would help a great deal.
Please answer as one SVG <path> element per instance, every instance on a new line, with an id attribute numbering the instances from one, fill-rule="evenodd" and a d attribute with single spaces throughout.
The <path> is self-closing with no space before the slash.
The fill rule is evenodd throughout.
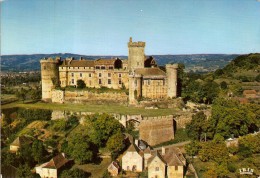
<path id="1" fill-rule="evenodd" d="M 128 69 L 133 71 L 136 68 L 144 68 L 145 42 L 132 42 L 132 37 L 128 42 Z"/>

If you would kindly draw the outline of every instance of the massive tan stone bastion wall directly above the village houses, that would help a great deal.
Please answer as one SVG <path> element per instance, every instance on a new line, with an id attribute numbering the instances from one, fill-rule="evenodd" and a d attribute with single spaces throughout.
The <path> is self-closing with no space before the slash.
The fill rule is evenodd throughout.
<path id="1" fill-rule="evenodd" d="M 139 138 L 154 146 L 174 139 L 173 116 L 145 117 L 139 125 Z"/>

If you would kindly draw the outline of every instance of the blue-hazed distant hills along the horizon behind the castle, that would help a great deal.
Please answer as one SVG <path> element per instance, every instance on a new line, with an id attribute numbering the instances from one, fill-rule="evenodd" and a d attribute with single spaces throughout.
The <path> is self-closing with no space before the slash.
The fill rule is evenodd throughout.
<path id="1" fill-rule="evenodd" d="M 44 57 L 61 58 L 74 57 L 79 59 L 98 58 L 114 58 L 119 57 L 127 59 L 127 56 L 89 56 L 71 53 L 56 53 L 56 54 L 32 54 L 32 55 L 3 55 L 1 56 L 2 71 L 36 71 L 40 70 L 40 59 Z M 167 63 L 183 63 L 186 71 L 193 72 L 209 72 L 226 66 L 231 60 L 239 56 L 238 54 L 191 54 L 191 55 L 152 55 L 158 65 Z"/>

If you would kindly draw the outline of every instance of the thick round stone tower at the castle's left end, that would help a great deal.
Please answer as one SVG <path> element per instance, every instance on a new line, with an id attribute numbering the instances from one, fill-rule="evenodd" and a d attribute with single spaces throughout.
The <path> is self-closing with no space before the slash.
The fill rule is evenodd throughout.
<path id="1" fill-rule="evenodd" d="M 59 63 L 60 58 L 42 59 L 41 81 L 42 81 L 42 100 L 51 101 L 51 91 L 59 85 Z"/>

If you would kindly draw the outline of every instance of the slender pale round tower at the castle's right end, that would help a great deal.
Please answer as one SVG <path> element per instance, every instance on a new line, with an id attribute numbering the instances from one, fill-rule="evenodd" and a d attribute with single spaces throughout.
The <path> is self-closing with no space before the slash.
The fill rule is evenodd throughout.
<path id="1" fill-rule="evenodd" d="M 178 64 L 166 64 L 167 96 L 169 98 L 177 96 L 177 69 Z"/>

